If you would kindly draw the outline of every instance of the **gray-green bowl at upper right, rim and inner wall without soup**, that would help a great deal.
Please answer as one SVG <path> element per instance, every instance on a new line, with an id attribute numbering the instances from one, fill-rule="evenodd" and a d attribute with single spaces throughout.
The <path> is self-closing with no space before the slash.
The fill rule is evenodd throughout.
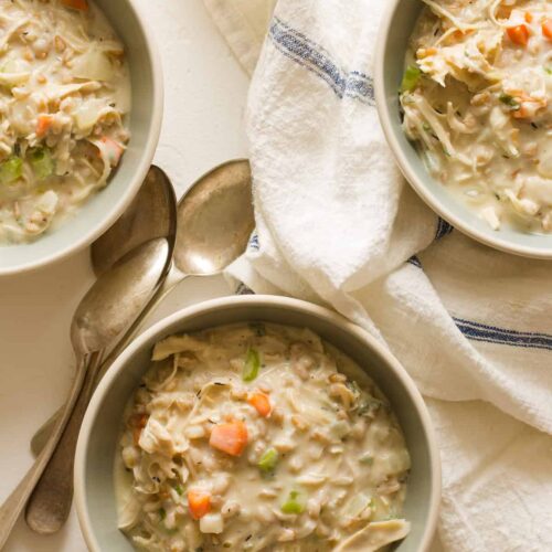
<path id="1" fill-rule="evenodd" d="M 507 226 L 495 231 L 428 173 L 401 128 L 399 112 L 406 46 L 424 4 L 421 0 L 389 0 L 388 4 L 378 36 L 374 89 L 383 131 L 404 177 L 437 214 L 474 240 L 516 255 L 552 258 L 552 235 Z"/>

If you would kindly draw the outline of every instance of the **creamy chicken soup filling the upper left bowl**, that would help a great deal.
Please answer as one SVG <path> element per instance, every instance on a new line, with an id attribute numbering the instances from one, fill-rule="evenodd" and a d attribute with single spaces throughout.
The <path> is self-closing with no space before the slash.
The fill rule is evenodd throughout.
<path id="1" fill-rule="evenodd" d="M 0 0 L 0 244 L 107 184 L 129 109 L 123 44 L 91 0 Z"/>

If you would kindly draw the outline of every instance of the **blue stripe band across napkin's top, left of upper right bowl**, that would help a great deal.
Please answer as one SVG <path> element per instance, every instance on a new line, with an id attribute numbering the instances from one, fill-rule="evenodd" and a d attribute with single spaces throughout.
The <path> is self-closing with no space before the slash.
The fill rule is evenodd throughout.
<path id="1" fill-rule="evenodd" d="M 375 105 L 371 76 L 358 71 L 341 70 L 321 45 L 278 18 L 273 19 L 269 36 L 284 55 L 322 78 L 340 99 L 347 96 Z"/>

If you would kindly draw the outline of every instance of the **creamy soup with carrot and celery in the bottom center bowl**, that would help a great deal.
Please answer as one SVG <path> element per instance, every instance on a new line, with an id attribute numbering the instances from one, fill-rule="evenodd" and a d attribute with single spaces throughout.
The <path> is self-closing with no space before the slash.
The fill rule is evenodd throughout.
<path id="1" fill-rule="evenodd" d="M 173 336 L 126 408 L 119 528 L 148 551 L 383 550 L 410 465 L 386 399 L 310 330 Z"/>

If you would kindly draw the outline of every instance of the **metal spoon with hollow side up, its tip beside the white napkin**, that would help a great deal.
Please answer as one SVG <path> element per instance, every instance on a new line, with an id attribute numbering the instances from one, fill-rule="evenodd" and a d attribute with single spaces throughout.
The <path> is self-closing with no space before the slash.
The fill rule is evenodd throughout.
<path id="1" fill-rule="evenodd" d="M 180 200 L 174 265 L 136 322 L 114 347 L 104 367 L 139 333 L 146 316 L 179 282 L 187 276 L 219 274 L 245 251 L 255 225 L 251 188 L 248 161 L 229 161 L 203 176 Z M 75 442 L 78 427 L 72 426 Z M 52 460 L 55 466 L 44 473 L 26 509 L 31 529 L 53 533 L 65 522 L 73 496 L 73 486 L 67 484 L 73 457 L 74 446 L 56 452 Z"/>

